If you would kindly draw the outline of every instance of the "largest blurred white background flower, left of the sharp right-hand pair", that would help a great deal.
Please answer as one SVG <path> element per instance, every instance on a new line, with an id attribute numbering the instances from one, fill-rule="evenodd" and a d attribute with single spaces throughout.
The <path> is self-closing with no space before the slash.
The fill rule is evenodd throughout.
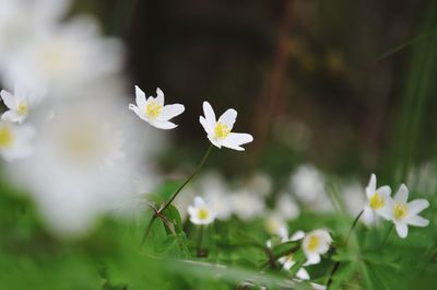
<path id="1" fill-rule="evenodd" d="M 332 210 L 332 202 L 324 192 L 324 176 L 314 165 L 300 165 L 291 176 L 290 184 L 296 197 L 309 209 Z"/>

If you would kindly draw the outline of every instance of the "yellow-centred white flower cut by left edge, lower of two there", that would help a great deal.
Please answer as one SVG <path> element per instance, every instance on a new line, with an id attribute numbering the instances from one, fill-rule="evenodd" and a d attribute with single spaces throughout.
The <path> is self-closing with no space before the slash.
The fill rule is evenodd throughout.
<path id="1" fill-rule="evenodd" d="M 29 125 L 16 126 L 0 121 L 0 155 L 8 162 L 29 156 L 34 135 L 35 130 Z"/>

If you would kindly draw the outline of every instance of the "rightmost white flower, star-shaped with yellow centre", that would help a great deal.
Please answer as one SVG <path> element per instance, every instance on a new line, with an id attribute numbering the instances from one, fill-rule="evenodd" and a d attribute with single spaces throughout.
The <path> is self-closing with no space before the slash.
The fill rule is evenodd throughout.
<path id="1" fill-rule="evenodd" d="M 427 227 L 429 221 L 422 218 L 418 213 L 429 207 L 426 199 L 409 200 L 409 188 L 401 184 L 394 199 L 389 199 L 389 214 L 394 223 L 395 230 L 400 237 L 404 239 L 409 234 L 409 227 Z"/>

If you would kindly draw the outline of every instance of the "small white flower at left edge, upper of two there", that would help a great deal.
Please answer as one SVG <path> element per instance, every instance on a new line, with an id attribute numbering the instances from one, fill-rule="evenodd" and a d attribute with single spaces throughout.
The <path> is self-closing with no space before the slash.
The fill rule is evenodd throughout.
<path id="1" fill-rule="evenodd" d="M 22 85 L 15 85 L 14 94 L 2 90 L 0 96 L 9 108 L 1 115 L 1 119 L 20 124 L 27 118 L 31 107 L 40 97 L 40 95 L 32 93 Z"/>

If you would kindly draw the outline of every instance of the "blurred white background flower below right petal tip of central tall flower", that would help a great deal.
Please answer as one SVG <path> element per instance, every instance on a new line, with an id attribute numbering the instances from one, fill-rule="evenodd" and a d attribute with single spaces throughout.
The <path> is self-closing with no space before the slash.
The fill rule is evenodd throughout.
<path id="1" fill-rule="evenodd" d="M 240 189 L 231 195 L 231 202 L 234 213 L 244 221 L 261 216 L 265 208 L 261 197 L 247 189 Z"/>

